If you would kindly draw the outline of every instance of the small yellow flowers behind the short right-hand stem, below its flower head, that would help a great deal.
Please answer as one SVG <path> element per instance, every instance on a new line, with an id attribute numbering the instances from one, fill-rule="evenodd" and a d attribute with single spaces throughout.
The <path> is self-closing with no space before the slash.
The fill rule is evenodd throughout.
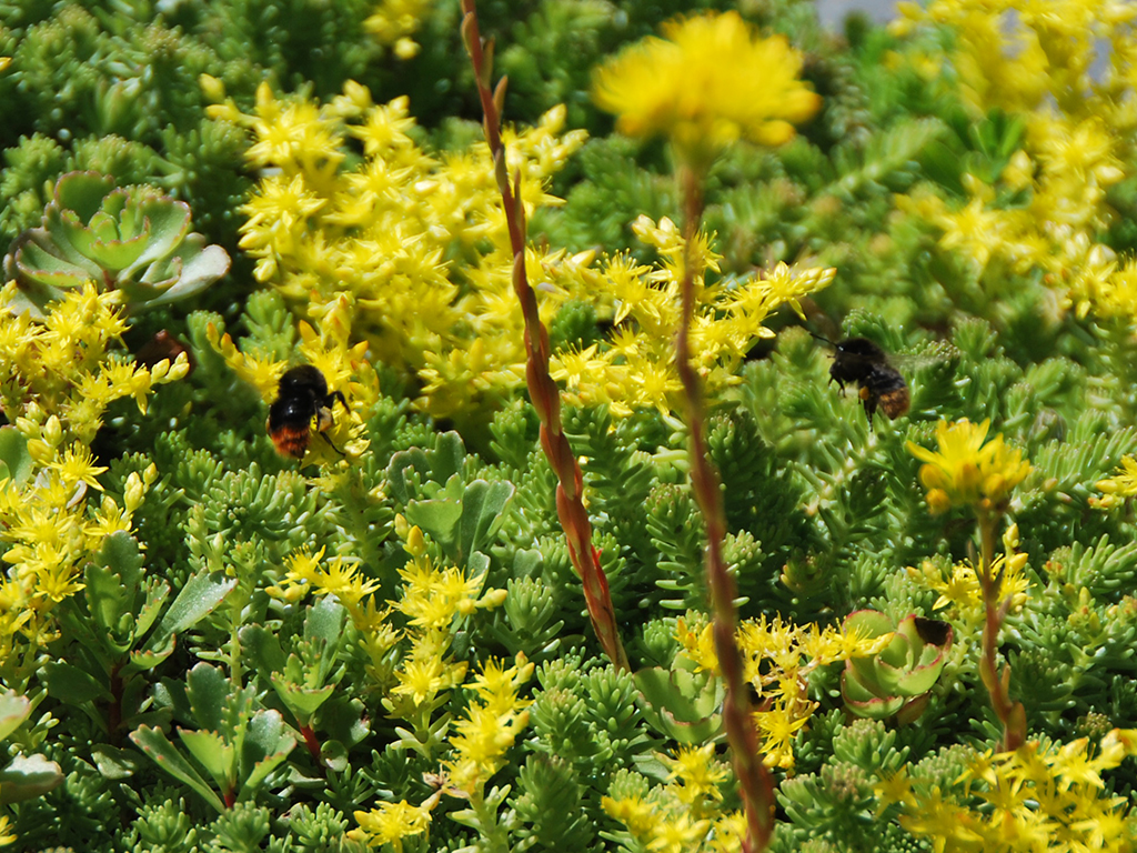
<path id="1" fill-rule="evenodd" d="M 1012 524 L 1003 533 L 1003 555 L 995 558 L 991 565 L 991 574 L 1002 574 L 1003 582 L 999 586 L 999 598 L 1010 598 L 1011 611 L 1019 611 L 1027 603 L 1027 594 L 1030 589 L 1030 581 L 1024 569 L 1028 556 L 1018 550 L 1019 525 Z M 933 610 L 949 607 L 947 619 L 956 627 L 956 630 L 976 631 L 982 628 L 986 618 L 986 605 L 984 603 L 982 585 L 976 568 L 969 562 L 957 563 L 947 574 L 932 564 L 924 561 L 919 568 L 910 568 L 908 577 L 939 594 Z"/>

